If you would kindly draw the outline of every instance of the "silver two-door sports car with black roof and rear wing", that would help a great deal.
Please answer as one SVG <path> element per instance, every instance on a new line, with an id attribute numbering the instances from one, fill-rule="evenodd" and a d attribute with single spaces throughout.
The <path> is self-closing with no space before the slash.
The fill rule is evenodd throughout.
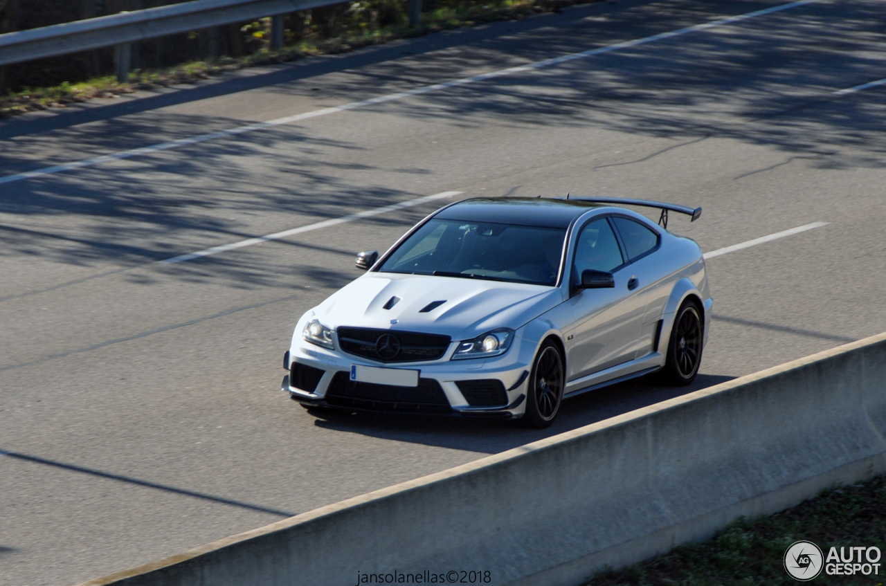
<path id="1" fill-rule="evenodd" d="M 661 210 L 658 225 L 622 204 Z M 305 313 L 283 390 L 308 409 L 519 418 L 658 371 L 698 374 L 713 300 L 702 251 L 642 200 L 475 198 L 419 222 Z"/>

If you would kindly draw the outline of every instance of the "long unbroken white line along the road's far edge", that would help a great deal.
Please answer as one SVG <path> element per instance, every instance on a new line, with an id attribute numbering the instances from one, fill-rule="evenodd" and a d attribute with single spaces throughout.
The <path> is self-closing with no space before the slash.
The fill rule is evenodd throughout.
<path id="1" fill-rule="evenodd" d="M 321 110 L 315 110 L 312 112 L 304 112 L 301 114 L 295 114 L 293 116 L 286 116 L 284 118 L 278 118 L 276 120 L 267 120 L 265 122 L 255 122 L 253 124 L 247 124 L 242 127 L 229 128 L 228 130 L 220 130 L 218 132 L 211 132 L 206 135 L 197 135 L 191 136 L 189 138 L 180 138 L 175 141 L 168 141 L 167 143 L 158 143 L 152 144 L 151 146 L 142 147 L 139 149 L 131 149 L 131 150 L 121 150 L 120 152 L 115 152 L 109 155 L 103 155 L 101 157 L 94 158 L 85 158 L 80 161 L 74 161 L 71 163 L 64 163 L 62 165 L 48 166 L 43 167 L 42 169 L 35 169 L 34 171 L 27 171 L 26 173 L 16 173 L 14 175 L 6 175 L 4 177 L 0 177 L 0 184 L 2 183 L 12 183 L 12 181 L 23 181 L 26 179 L 32 179 L 34 177 L 40 177 L 43 175 L 51 175 L 55 173 L 63 173 L 66 171 L 73 171 L 74 169 L 81 169 L 82 167 L 88 166 L 96 166 L 101 163 L 106 163 L 109 161 L 120 160 L 124 158 L 132 158 L 137 157 L 139 155 L 147 155 L 152 152 L 156 152 L 158 150 L 169 150 L 169 149 L 178 149 L 183 146 L 189 146 L 191 144 L 198 143 L 206 143 L 206 141 L 212 141 L 217 138 L 225 138 L 228 136 L 236 136 L 242 135 L 246 132 L 253 132 L 253 130 L 262 130 L 264 128 L 276 127 L 283 124 L 291 124 L 292 122 L 299 122 L 300 120 L 307 120 L 309 118 L 316 118 L 317 116 L 325 116 L 326 114 L 332 114 L 335 112 L 345 112 L 347 110 L 355 110 L 357 108 L 362 108 L 369 105 L 374 104 L 383 104 L 385 102 L 392 102 L 393 100 L 400 100 L 404 97 L 409 96 L 418 96 L 420 94 L 427 94 L 432 91 L 437 91 L 438 89 L 447 89 L 447 88 L 455 88 L 457 86 L 467 85 L 469 83 L 476 83 L 478 81 L 486 81 L 491 80 L 496 77 L 501 77 L 502 75 L 511 75 L 513 73 L 522 73 L 527 71 L 532 71 L 534 69 L 540 69 L 542 67 L 548 66 L 556 66 L 561 63 L 565 63 L 567 61 L 571 61 L 573 59 L 587 58 L 593 57 L 595 55 L 602 55 L 603 53 L 609 53 L 610 51 L 620 50 L 620 49 L 628 49 L 630 47 L 636 47 L 638 45 L 643 45 L 649 42 L 661 41 L 663 39 L 670 39 L 674 36 L 686 35 L 688 33 L 695 33 L 698 31 L 708 30 L 714 27 L 724 27 L 727 25 L 734 24 L 736 22 L 741 22 L 742 20 L 753 19 L 758 16 L 764 16 L 766 14 L 772 14 L 773 12 L 781 12 L 785 10 L 789 10 L 791 8 L 797 8 L 798 6 L 804 6 L 805 4 L 812 4 L 814 2 L 819 2 L 820 0 L 799 0 L 799 2 L 791 2 L 789 4 L 780 4 L 778 6 L 773 6 L 771 8 L 766 8 L 764 10 L 758 10 L 755 12 L 746 12 L 745 14 L 739 14 L 737 16 L 730 16 L 725 19 L 717 19 L 712 20 L 711 22 L 705 22 L 700 25 L 695 25 L 693 27 L 685 27 L 680 28 L 674 31 L 670 31 L 668 33 L 660 33 L 658 35 L 645 36 L 641 39 L 634 39 L 633 41 L 626 42 L 617 42 L 612 45 L 607 45 L 605 47 L 600 47 L 597 49 L 581 51 L 579 53 L 570 53 L 568 55 L 563 55 L 561 57 L 544 59 L 542 61 L 535 61 L 533 63 L 528 63 L 523 66 L 516 67 L 508 67 L 507 69 L 500 69 L 498 71 L 490 72 L 490 73 L 481 73 L 479 75 L 473 75 L 471 77 L 462 77 L 461 79 L 447 81 L 445 83 L 435 83 L 429 86 L 423 86 L 421 88 L 416 89 L 408 89 L 407 91 L 400 91 L 394 94 L 388 94 L 386 96 L 378 96 L 373 97 L 368 100 L 361 100 L 360 102 L 351 102 L 349 104 L 342 104 L 339 106 L 334 106 L 331 108 L 323 108 Z"/>

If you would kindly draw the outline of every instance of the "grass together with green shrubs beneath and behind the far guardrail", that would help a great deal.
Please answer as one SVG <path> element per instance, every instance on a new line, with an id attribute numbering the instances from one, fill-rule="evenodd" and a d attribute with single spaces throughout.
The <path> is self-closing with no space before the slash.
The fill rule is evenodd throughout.
<path id="1" fill-rule="evenodd" d="M 179 66 L 136 70 L 128 83 L 113 76 L 77 83 L 63 82 L 46 88 L 24 88 L 0 96 L 0 118 L 23 112 L 64 108 L 95 98 L 114 98 L 136 89 L 157 89 L 193 83 L 249 66 L 284 63 L 307 55 L 329 55 L 380 44 L 392 39 L 427 35 L 447 28 L 470 27 L 496 20 L 523 19 L 541 12 L 558 12 L 572 4 L 595 0 L 501 0 L 481 4 L 477 0 L 439 5 L 422 14 L 421 27 L 410 28 L 404 4 L 396 0 L 373 0 L 298 12 L 287 18 L 286 46 L 272 51 L 267 44 L 269 19 L 240 28 L 247 45 L 259 47 L 245 57 L 221 57 L 192 61 Z M 313 18 L 312 18 L 313 17 Z M 189 38 L 198 33 L 192 33 Z"/>

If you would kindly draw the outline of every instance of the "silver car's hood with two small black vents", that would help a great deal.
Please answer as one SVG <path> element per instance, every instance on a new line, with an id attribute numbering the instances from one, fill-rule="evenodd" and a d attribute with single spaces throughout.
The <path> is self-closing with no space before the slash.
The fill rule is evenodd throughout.
<path id="1" fill-rule="evenodd" d="M 399 301 L 390 305 L 392 297 Z M 562 300 L 560 289 L 540 285 L 369 273 L 339 289 L 314 312 L 327 328 L 385 328 L 468 340 L 494 328 L 517 329 Z M 421 311 L 435 301 L 445 303 Z"/>

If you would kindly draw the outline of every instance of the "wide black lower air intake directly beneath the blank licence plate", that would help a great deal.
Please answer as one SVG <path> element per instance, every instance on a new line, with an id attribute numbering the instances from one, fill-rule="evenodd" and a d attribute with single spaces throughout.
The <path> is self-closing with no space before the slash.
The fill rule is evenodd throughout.
<path id="1" fill-rule="evenodd" d="M 417 387 L 352 381 L 350 374 L 338 372 L 326 389 L 330 405 L 404 413 L 451 413 L 452 408 L 439 382 L 418 379 Z"/>

